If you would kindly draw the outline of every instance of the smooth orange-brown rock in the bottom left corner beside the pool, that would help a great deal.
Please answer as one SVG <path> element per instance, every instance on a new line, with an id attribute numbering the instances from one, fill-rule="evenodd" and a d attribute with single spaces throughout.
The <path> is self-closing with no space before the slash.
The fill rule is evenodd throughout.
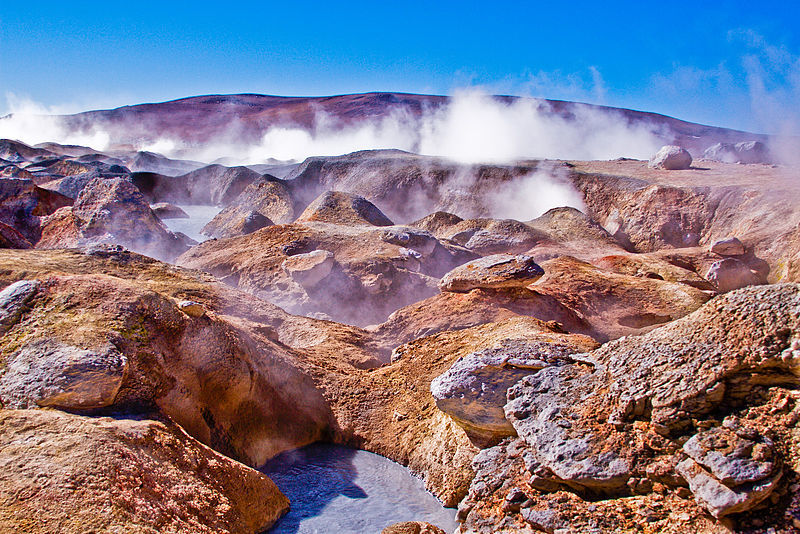
<path id="1" fill-rule="evenodd" d="M 172 422 L 0 410 L 0 465 L 3 532 L 255 534 L 289 508 Z"/>

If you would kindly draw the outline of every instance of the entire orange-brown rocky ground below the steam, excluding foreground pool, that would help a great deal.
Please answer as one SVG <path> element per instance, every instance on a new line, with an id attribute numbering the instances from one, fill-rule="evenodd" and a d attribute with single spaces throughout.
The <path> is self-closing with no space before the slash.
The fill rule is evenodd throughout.
<path id="1" fill-rule="evenodd" d="M 323 104 L 437 105 L 390 97 Z M 70 120 L 310 113 L 215 98 Z M 291 503 L 257 469 L 320 441 L 462 534 L 800 530 L 798 168 L 664 121 L 650 162 L 0 141 L 0 530 L 264 532 Z M 198 205 L 208 240 L 169 230 Z"/>

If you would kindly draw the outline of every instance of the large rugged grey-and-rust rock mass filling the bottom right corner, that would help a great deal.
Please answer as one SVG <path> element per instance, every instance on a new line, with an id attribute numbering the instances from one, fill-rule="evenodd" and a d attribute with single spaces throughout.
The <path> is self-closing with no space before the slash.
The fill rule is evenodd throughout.
<path id="1" fill-rule="evenodd" d="M 462 529 L 486 531 L 493 519 L 626 530 L 620 510 L 646 507 L 656 529 L 682 510 L 681 528 L 710 530 L 703 510 L 723 517 L 756 507 L 781 487 L 781 462 L 794 461 L 775 444 L 797 440 L 796 415 L 782 415 L 781 399 L 800 380 L 798 327 L 800 286 L 751 287 L 522 379 L 505 405 L 519 438 L 475 458 Z M 665 492 L 685 484 L 691 504 Z M 592 502 L 598 496 L 615 499 Z M 489 508 L 498 500 L 508 503 L 501 512 Z"/>

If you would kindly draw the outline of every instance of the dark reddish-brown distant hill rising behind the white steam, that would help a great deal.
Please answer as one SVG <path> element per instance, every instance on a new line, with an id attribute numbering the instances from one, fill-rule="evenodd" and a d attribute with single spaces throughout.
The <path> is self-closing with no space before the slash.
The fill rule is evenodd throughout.
<path id="1" fill-rule="evenodd" d="M 523 97 L 495 96 L 514 103 Z M 533 99 L 528 99 L 533 101 Z M 270 127 L 310 128 L 320 113 L 339 124 L 382 119 L 401 112 L 410 117 L 440 109 L 451 97 L 404 93 L 364 93 L 329 97 L 283 97 L 258 94 L 206 95 L 169 102 L 124 106 L 65 116 L 70 128 L 101 127 L 117 145 L 136 144 L 171 137 L 189 143 L 207 142 L 217 136 L 235 136 L 242 142 L 260 138 Z M 768 136 L 717 128 L 665 115 L 630 109 L 595 106 L 558 100 L 537 100 L 550 113 L 575 117 L 578 110 L 597 110 L 624 117 L 632 126 L 645 125 L 664 143 L 675 143 L 700 155 L 714 143 L 767 141 Z"/>

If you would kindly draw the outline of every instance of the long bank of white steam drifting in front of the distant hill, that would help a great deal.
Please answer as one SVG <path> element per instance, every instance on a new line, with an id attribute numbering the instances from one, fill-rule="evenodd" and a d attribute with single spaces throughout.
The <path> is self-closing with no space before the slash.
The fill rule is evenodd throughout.
<path id="1" fill-rule="evenodd" d="M 32 102 L 9 100 L 12 115 L 0 120 L 0 137 L 35 144 L 55 141 L 82 144 L 97 150 L 113 147 L 113 133 L 95 126 L 89 131 L 65 128 L 48 110 Z M 188 145 L 181 139 L 153 137 L 140 150 L 168 157 L 211 162 L 219 158 L 241 164 L 270 158 L 303 160 L 358 150 L 396 148 L 462 163 L 503 163 L 529 158 L 645 159 L 662 144 L 659 132 L 631 124 L 621 112 L 575 104 L 564 116 L 538 99 L 503 101 L 486 94 L 460 91 L 438 109 L 419 117 L 396 112 L 380 120 L 342 125 L 323 113 L 311 130 L 275 126 L 256 143 L 242 143 L 240 124 L 213 142 Z"/>

